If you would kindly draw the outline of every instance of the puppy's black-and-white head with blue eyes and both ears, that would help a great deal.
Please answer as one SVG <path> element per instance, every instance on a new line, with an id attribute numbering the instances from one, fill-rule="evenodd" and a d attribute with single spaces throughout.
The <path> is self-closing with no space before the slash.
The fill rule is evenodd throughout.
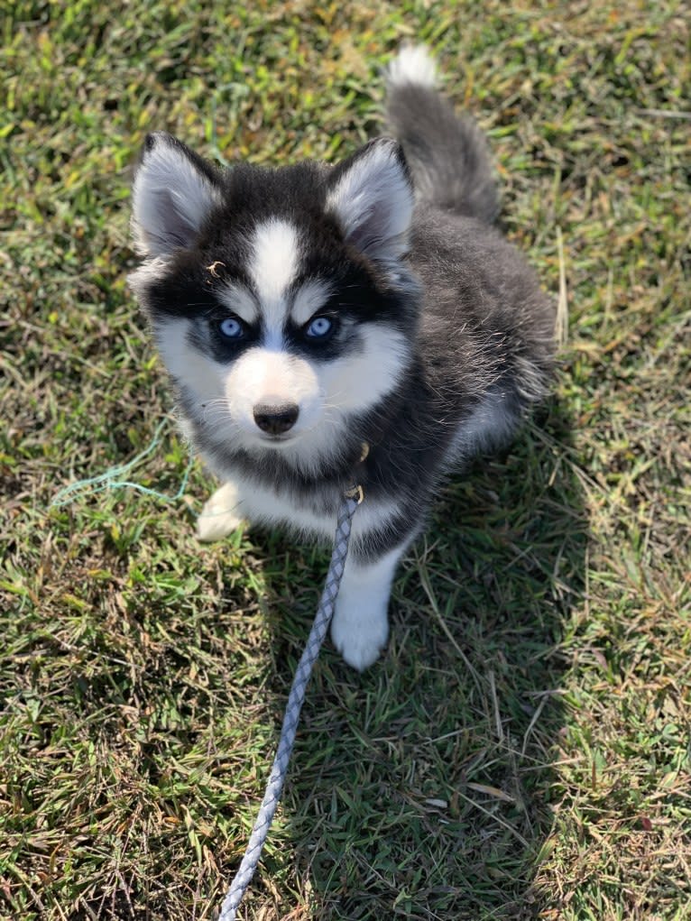
<path id="1" fill-rule="evenodd" d="M 149 137 L 133 216 L 146 259 L 130 284 L 193 432 L 303 466 L 337 452 L 409 358 L 411 211 L 390 141 L 332 170 L 220 174 L 170 135 Z"/>

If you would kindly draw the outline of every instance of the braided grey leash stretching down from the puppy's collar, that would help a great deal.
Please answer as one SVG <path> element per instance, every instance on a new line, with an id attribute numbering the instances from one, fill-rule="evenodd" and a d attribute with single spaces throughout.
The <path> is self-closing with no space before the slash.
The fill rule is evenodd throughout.
<path id="1" fill-rule="evenodd" d="M 264 799 L 259 808 L 257 820 L 254 822 L 245 856 L 242 857 L 240 869 L 235 874 L 235 879 L 230 883 L 228 895 L 221 905 L 221 913 L 218 915 L 218 921 L 233 921 L 240 900 L 245 894 L 245 890 L 250 885 L 254 870 L 257 869 L 257 864 L 259 863 L 259 857 L 262 855 L 262 848 L 266 841 L 266 835 L 269 834 L 269 826 L 274 818 L 278 799 L 280 799 L 283 783 L 286 779 L 287 765 L 290 760 L 290 752 L 293 750 L 295 735 L 298 731 L 298 720 L 300 710 L 302 709 L 302 703 L 305 699 L 307 682 L 310 681 L 312 666 L 319 656 L 319 650 L 322 648 L 324 636 L 334 616 L 335 600 L 345 569 L 345 557 L 348 553 L 348 541 L 350 540 L 350 528 L 353 523 L 353 515 L 361 501 L 362 489 L 357 486 L 356 489 L 349 490 L 345 494 L 343 504 L 338 512 L 338 523 L 334 536 L 334 552 L 331 555 L 331 564 L 326 574 L 326 581 L 324 582 L 322 591 L 322 600 L 319 602 L 319 608 L 317 609 L 317 614 L 310 630 L 307 646 L 299 660 L 298 670 L 295 673 L 295 678 L 290 688 L 286 706 L 286 716 L 283 717 L 281 738 L 278 741 L 278 751 L 275 755 L 274 766 L 271 769 L 271 775 L 266 785 Z"/>

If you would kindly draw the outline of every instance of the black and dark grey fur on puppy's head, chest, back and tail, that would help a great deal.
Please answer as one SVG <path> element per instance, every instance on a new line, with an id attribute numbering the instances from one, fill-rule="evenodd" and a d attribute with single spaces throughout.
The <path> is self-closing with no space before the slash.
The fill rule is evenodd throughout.
<path id="1" fill-rule="evenodd" d="M 237 472 L 257 490 L 322 516 L 335 515 L 356 475 L 374 506 L 400 501 L 404 513 L 358 536 L 354 546 L 361 559 L 378 558 L 421 528 L 452 462 L 510 436 L 543 396 L 554 354 L 554 306 L 518 252 L 490 226 L 497 192 L 474 124 L 457 120 L 432 90 L 412 85 L 394 88 L 389 116 L 417 201 L 409 254 L 393 269 L 346 242 L 325 211 L 329 189 L 368 147 L 333 169 L 314 163 L 284 169 L 240 165 L 220 173 L 180 145 L 220 190 L 222 204 L 212 208 L 192 249 L 174 253 L 156 278 L 138 281 L 154 325 L 189 318 L 194 347 L 230 361 L 261 341 L 262 324 L 249 327 L 248 338 L 237 345 L 218 342 L 208 318 L 228 316 L 228 308 L 217 297 L 220 282 L 206 267 L 223 262 L 224 285 L 235 281 L 252 290 L 247 265 L 254 230 L 270 218 L 285 219 L 297 227 L 301 243 L 293 290 L 310 279 L 326 280 L 330 294 L 319 312 L 339 323 L 319 343 L 288 322 L 289 351 L 317 364 L 361 351 L 368 324 L 403 333 L 410 356 L 392 392 L 368 411 L 351 413 L 334 429 L 330 452 L 309 465 L 289 460 L 280 449 L 219 445 L 210 424 L 196 417 L 184 381 L 176 381 L 195 447 L 222 474 Z M 395 152 L 404 163 L 399 146 Z M 490 422 L 480 431 L 482 411 Z M 369 457 L 358 462 L 363 441 Z"/>

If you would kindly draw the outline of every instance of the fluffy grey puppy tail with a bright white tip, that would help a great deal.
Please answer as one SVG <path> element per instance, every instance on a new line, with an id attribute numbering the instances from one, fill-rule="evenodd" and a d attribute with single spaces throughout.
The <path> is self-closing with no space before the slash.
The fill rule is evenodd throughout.
<path id="1" fill-rule="evenodd" d="M 437 90 L 427 48 L 404 47 L 389 64 L 386 115 L 400 140 L 417 197 L 459 215 L 491 223 L 498 196 L 484 135 L 458 118 Z"/>

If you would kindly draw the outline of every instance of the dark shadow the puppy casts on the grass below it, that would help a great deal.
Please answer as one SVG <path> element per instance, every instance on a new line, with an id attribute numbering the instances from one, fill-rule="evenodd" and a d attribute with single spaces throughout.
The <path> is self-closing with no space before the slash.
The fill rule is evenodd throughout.
<path id="1" fill-rule="evenodd" d="M 282 842 L 267 847 L 255 892 L 297 879 L 287 899 L 320 919 L 539 915 L 559 640 L 582 593 L 586 542 L 568 418 L 554 400 L 506 456 L 477 461 L 445 491 L 397 580 L 381 662 L 360 676 L 322 651 Z M 276 558 L 287 544 L 266 547 Z M 321 559 L 312 563 L 318 579 Z M 278 700 L 316 600 L 313 584 L 295 592 L 273 623 Z M 278 916 L 293 916 L 279 904 Z"/>

